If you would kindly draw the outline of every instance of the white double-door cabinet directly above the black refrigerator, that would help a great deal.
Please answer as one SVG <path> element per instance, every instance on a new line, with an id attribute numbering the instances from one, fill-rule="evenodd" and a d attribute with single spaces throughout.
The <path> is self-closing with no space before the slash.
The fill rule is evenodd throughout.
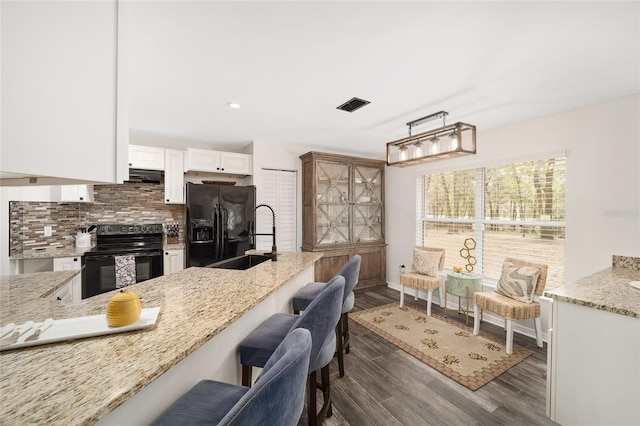
<path id="1" fill-rule="evenodd" d="M 185 169 L 187 172 L 250 175 L 251 155 L 187 148 Z"/>

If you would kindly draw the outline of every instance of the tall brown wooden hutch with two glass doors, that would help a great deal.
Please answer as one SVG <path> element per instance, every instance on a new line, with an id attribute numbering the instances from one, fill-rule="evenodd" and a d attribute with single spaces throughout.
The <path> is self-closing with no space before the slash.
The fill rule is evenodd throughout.
<path id="1" fill-rule="evenodd" d="M 308 152 L 302 160 L 302 250 L 321 251 L 315 279 L 328 281 L 355 254 L 357 289 L 386 283 L 385 161 Z"/>

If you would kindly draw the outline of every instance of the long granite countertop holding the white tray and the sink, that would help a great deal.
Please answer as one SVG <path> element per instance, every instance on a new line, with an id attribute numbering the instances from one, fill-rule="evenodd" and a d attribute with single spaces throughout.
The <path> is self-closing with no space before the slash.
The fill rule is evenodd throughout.
<path id="1" fill-rule="evenodd" d="M 321 256 L 281 253 L 247 271 L 189 268 L 154 278 L 129 287 L 143 308 L 160 307 L 153 328 L 1 352 L 0 424 L 97 422 Z M 66 304 L 41 297 L 74 272 L 3 278 L 0 325 L 104 314 L 116 291 Z"/>

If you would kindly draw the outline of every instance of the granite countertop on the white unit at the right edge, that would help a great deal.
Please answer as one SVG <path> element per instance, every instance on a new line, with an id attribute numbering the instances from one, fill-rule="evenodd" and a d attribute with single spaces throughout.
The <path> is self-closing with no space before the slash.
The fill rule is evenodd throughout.
<path id="1" fill-rule="evenodd" d="M 563 302 L 640 318 L 640 290 L 631 287 L 631 281 L 640 281 L 640 271 L 611 267 L 545 291 L 544 295 Z"/>

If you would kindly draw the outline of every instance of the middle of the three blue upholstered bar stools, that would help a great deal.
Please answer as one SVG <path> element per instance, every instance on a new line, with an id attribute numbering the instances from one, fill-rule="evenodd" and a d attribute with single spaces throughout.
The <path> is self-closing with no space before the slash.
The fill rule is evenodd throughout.
<path id="1" fill-rule="evenodd" d="M 344 277 L 333 277 L 311 302 L 302 315 L 274 314 L 240 342 L 240 363 L 242 364 L 242 384 L 251 386 L 252 367 L 264 366 L 278 344 L 287 333 L 298 328 L 311 332 L 311 356 L 307 386 L 307 411 L 309 425 L 316 425 L 318 417 L 332 415 L 329 386 L 329 363 L 336 349 L 334 329 L 340 319 Z M 322 375 L 323 405 L 316 409 L 316 372 Z"/>

